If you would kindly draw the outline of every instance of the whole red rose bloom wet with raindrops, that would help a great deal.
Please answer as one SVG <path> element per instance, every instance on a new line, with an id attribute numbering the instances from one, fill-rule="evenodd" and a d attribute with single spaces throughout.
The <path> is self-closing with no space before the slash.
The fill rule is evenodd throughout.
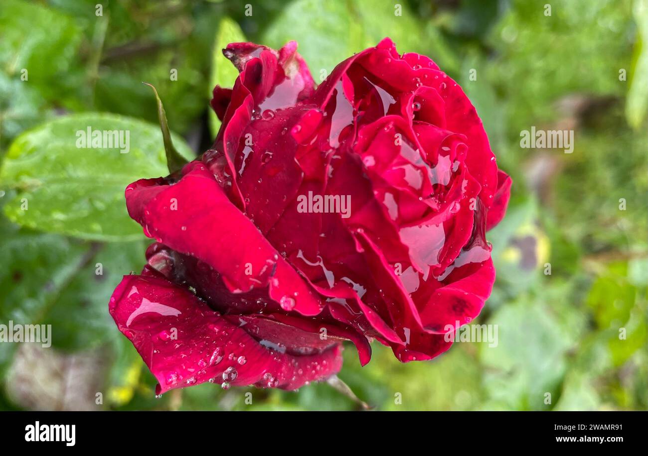
<path id="1" fill-rule="evenodd" d="M 156 239 L 110 313 L 159 385 L 295 389 L 342 342 L 430 360 L 478 316 L 511 179 L 455 81 L 386 38 L 316 87 L 297 43 L 233 43 L 213 148 L 126 188 Z M 349 207 L 343 207 L 348 203 Z"/>

